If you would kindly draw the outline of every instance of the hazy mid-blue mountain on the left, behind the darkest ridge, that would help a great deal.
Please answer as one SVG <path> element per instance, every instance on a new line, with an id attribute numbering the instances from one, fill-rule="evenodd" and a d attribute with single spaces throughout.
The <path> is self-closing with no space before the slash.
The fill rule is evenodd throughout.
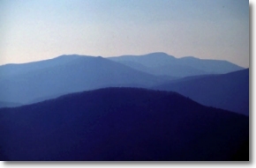
<path id="1" fill-rule="evenodd" d="M 27 104 L 76 91 L 107 86 L 149 87 L 166 80 L 93 56 L 64 55 L 14 69 L 19 72 L 7 70 L 9 76 L 0 79 L 0 101 Z"/>

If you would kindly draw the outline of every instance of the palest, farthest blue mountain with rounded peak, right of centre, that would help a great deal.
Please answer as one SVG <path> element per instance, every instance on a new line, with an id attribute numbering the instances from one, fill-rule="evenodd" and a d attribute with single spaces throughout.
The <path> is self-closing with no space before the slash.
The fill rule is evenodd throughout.
<path id="1" fill-rule="evenodd" d="M 171 77 L 224 74 L 243 69 L 242 67 L 227 61 L 203 60 L 192 56 L 175 58 L 174 56 L 165 53 L 123 55 L 110 57 L 109 59 L 150 74 L 169 75 Z"/>

